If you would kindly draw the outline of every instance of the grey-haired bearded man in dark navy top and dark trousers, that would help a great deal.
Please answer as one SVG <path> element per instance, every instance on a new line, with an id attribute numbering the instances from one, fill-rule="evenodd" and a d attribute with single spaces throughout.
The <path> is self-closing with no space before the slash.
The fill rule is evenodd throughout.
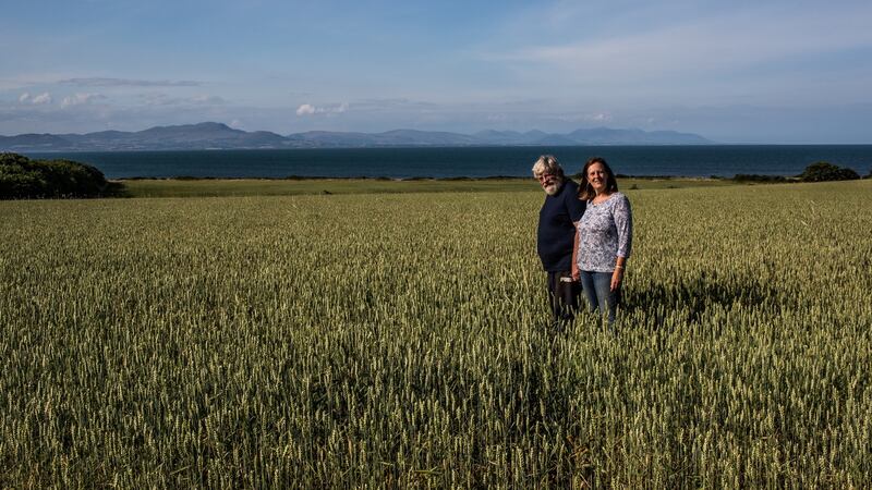
<path id="1" fill-rule="evenodd" d="M 562 330 L 574 318 L 581 293 L 572 279 L 572 246 L 585 203 L 579 200 L 578 184 L 564 175 L 555 157 L 540 157 L 533 164 L 533 176 L 545 191 L 545 203 L 538 212 L 536 252 L 548 273 L 552 327 Z"/>

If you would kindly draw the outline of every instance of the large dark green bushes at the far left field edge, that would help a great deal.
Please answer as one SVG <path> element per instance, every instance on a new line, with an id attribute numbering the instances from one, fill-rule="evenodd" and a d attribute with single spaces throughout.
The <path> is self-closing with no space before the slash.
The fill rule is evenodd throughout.
<path id="1" fill-rule="evenodd" d="M 0 199 L 99 197 L 117 192 L 116 187 L 85 163 L 0 154 Z"/>

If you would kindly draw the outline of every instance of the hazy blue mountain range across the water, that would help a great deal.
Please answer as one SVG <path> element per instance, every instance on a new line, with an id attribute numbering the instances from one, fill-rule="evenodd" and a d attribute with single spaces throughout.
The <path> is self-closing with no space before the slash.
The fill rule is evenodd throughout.
<path id="1" fill-rule="evenodd" d="M 583 146 L 583 145 L 707 145 L 713 142 L 675 131 L 596 127 L 567 134 L 542 131 L 481 131 L 460 134 L 395 130 L 385 133 L 308 131 L 282 136 L 268 131 L 247 132 L 204 122 L 156 126 L 145 131 L 101 131 L 87 134 L 20 134 L 0 136 L 3 151 L 132 151 L 193 149 L 365 148 L 400 146 Z"/>

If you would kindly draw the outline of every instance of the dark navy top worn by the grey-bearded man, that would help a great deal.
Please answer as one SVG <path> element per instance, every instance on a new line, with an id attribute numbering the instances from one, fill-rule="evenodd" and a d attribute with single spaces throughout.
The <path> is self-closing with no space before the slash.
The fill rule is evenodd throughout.
<path id="1" fill-rule="evenodd" d="M 572 269 L 572 245 L 576 226 L 572 224 L 584 215 L 585 203 L 579 200 L 579 185 L 566 179 L 560 191 L 545 196 L 538 211 L 538 235 L 536 250 L 542 267 L 548 272 Z"/>

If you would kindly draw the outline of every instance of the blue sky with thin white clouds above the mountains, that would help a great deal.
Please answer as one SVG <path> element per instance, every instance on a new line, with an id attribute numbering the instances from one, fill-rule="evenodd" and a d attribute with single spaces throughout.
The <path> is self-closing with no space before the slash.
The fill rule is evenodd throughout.
<path id="1" fill-rule="evenodd" d="M 869 1 L 0 1 L 4 135 L 218 121 L 872 144 Z"/>

